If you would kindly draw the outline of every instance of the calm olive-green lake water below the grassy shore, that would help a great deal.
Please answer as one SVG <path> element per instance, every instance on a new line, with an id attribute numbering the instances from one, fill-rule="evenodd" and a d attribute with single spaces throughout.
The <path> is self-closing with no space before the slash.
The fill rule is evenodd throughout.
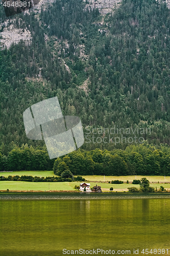
<path id="1" fill-rule="evenodd" d="M 68 255 L 63 249 L 84 249 L 91 255 L 113 255 L 113 250 L 119 255 L 126 252 L 117 250 L 130 250 L 134 255 L 133 250 L 139 249 L 138 255 L 146 255 L 143 248 L 169 249 L 170 254 L 169 199 L 169 195 L 0 194 L 0 255 Z M 105 254 L 95 254 L 96 249 Z M 162 252 L 167 255 L 167 250 Z"/>

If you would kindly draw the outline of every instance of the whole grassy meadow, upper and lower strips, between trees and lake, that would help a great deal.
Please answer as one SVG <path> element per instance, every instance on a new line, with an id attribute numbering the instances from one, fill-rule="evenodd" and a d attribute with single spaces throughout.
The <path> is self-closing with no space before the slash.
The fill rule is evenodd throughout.
<path id="1" fill-rule="evenodd" d="M 10 173 L 0 173 L 0 176 L 8 177 L 9 175 L 31 175 L 31 176 L 41 176 L 41 177 L 48 177 L 48 176 L 56 176 L 53 173 L 53 170 L 23 170 L 23 171 L 15 171 Z M 98 186 L 101 186 L 103 191 L 109 191 L 110 187 L 113 187 L 113 191 L 127 191 L 128 187 L 137 187 L 139 185 L 134 184 L 111 184 L 111 183 L 102 183 L 112 180 L 122 180 L 124 182 L 132 182 L 133 180 L 140 180 L 141 178 L 147 178 L 150 181 L 150 185 L 152 187 L 159 188 L 161 183 L 158 182 L 170 182 L 169 176 L 98 176 L 98 175 L 91 175 L 91 176 L 83 176 L 88 182 L 90 182 L 90 187 L 93 187 L 96 183 Z M 156 183 L 153 183 L 156 182 Z M 0 181 L 0 190 L 72 190 L 74 191 L 75 185 L 80 185 L 80 182 L 24 182 L 24 181 Z M 164 188 L 170 189 L 170 184 L 162 184 Z"/>

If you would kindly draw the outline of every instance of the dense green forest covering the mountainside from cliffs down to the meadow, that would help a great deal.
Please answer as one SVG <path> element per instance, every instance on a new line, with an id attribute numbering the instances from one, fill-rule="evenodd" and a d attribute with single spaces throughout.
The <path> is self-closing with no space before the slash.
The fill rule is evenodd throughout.
<path id="1" fill-rule="evenodd" d="M 57 96 L 63 115 L 79 116 L 84 128 L 85 142 L 70 153 L 71 163 L 82 154 L 93 166 L 77 171 L 70 165 L 72 173 L 170 175 L 170 12 L 164 2 L 125 0 L 101 15 L 85 2 L 61 0 L 12 22 L 28 29 L 32 40 L 0 51 L 2 169 L 53 168 L 44 142 L 27 138 L 22 115 Z M 92 157 L 96 148 L 100 161 Z M 23 155 L 29 161 L 19 165 Z"/>

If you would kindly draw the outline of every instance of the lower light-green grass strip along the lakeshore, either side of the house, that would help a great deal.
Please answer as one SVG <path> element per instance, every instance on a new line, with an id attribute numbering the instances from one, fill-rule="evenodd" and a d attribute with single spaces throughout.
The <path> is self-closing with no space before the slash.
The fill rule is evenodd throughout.
<path id="1" fill-rule="evenodd" d="M 96 183 L 90 182 L 90 187 L 93 187 Z M 139 185 L 134 184 L 109 184 L 109 183 L 97 183 L 102 187 L 103 191 L 109 191 L 110 187 L 113 187 L 114 191 L 126 191 L 128 187 L 134 186 L 139 188 Z M 75 185 L 80 185 L 79 182 L 25 182 L 25 181 L 0 181 L 0 190 L 75 190 Z M 159 188 L 161 184 L 151 184 L 152 187 Z M 162 184 L 164 188 L 170 189 L 170 184 Z M 76 191 L 76 190 L 75 190 Z"/>

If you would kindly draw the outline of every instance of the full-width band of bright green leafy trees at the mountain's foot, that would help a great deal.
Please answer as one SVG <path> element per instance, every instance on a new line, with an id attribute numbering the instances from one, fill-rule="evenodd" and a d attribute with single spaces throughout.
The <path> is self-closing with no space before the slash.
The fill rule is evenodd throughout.
<path id="1" fill-rule="evenodd" d="M 0 147 L 0 152 L 2 147 Z M 170 148 L 147 143 L 127 146 L 125 150 L 77 150 L 50 159 L 45 147 L 13 145 L 9 154 L 0 153 L 0 170 L 52 170 L 71 175 L 166 175 L 170 176 Z"/>

